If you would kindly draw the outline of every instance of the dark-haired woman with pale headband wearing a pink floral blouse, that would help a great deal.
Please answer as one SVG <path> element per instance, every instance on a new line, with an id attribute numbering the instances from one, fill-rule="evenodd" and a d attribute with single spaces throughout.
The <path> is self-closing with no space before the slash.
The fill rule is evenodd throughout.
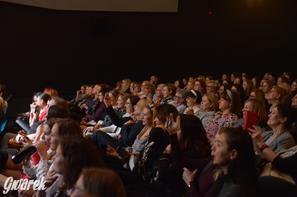
<path id="1" fill-rule="evenodd" d="M 243 117 L 238 93 L 224 91 L 220 94 L 219 109 L 206 123 L 206 133 L 209 139 L 214 138 L 220 127 L 233 126 L 238 119 Z"/>

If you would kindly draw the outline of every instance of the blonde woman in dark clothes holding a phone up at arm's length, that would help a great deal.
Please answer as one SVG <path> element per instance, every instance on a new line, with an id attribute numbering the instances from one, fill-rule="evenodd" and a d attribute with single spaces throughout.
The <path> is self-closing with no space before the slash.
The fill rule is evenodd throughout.
<path id="1" fill-rule="evenodd" d="M 132 103 L 130 103 L 131 100 L 135 100 L 135 101 L 139 100 L 139 97 L 131 96 L 126 102 L 126 108 L 129 106 L 132 106 Z M 110 120 L 117 127 L 121 127 L 119 138 L 118 140 L 116 140 L 110 135 L 108 135 L 107 133 L 104 133 L 103 131 L 96 131 L 91 135 L 90 140 L 94 144 L 99 146 L 103 151 L 106 150 L 108 145 L 114 149 L 116 149 L 118 146 L 121 146 L 123 148 L 132 146 L 137 135 L 141 132 L 141 130 L 144 127 L 144 125 L 142 124 L 141 117 L 143 115 L 143 109 L 145 108 L 146 105 L 150 103 L 150 101 L 147 99 L 140 99 L 137 102 L 137 104 L 135 104 L 134 106 L 133 116 L 131 116 L 132 114 L 130 114 L 129 117 L 122 117 L 122 118 L 119 118 L 116 112 L 114 112 L 111 106 L 110 96 L 107 96 L 107 100 L 104 100 L 104 102 L 107 107 L 106 112 L 110 117 Z"/>

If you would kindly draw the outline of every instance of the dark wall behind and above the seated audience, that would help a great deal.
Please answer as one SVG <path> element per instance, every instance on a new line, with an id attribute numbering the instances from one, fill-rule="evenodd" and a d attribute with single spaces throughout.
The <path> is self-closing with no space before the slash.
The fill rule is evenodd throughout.
<path id="1" fill-rule="evenodd" d="M 159 75 L 282 74 L 296 67 L 295 0 L 180 0 L 177 13 L 59 11 L 0 1 L 0 83 L 15 96 Z M 213 14 L 209 15 L 208 11 Z M 92 18 L 108 20 L 105 34 Z M 295 73 L 294 73 L 295 74 Z M 296 75 L 294 75 L 296 77 Z"/>

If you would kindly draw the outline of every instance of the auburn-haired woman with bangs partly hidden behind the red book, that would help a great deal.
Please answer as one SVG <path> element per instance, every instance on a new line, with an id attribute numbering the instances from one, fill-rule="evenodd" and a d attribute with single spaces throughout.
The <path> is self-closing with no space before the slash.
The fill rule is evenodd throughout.
<path id="1" fill-rule="evenodd" d="M 265 131 L 265 128 L 263 125 L 266 125 L 267 122 L 267 113 L 265 110 L 265 107 L 263 103 L 256 99 L 248 99 L 244 102 L 244 108 L 242 109 L 243 112 L 243 118 L 239 119 L 234 127 L 243 127 L 244 123 L 244 117 L 245 117 L 245 111 L 254 112 L 258 114 L 256 127 L 263 133 Z"/>

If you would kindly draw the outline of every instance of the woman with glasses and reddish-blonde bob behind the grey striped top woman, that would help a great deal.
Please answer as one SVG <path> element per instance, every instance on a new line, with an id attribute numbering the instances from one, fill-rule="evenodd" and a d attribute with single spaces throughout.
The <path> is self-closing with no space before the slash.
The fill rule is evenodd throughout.
<path id="1" fill-rule="evenodd" d="M 270 105 L 267 106 L 267 115 L 271 114 L 272 110 L 282 102 L 285 98 L 285 91 L 283 88 L 275 85 L 272 87 L 271 91 L 268 93 L 268 101 L 271 102 Z"/>

